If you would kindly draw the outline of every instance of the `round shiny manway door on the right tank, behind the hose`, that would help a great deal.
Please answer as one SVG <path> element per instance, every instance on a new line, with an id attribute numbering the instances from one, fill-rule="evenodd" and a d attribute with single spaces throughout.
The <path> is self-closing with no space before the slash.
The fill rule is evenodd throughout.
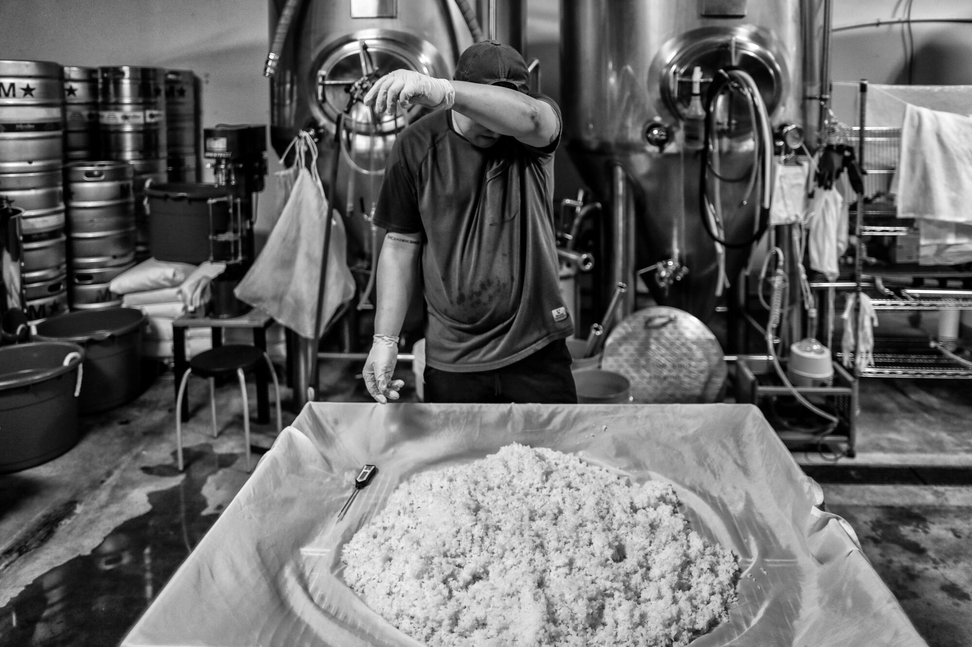
<path id="1" fill-rule="evenodd" d="M 666 107 L 685 119 L 692 99 L 692 75 L 702 69 L 705 96 L 719 70 L 737 67 L 759 87 L 771 116 L 788 92 L 788 74 L 779 48 L 769 32 L 758 27 L 700 27 L 685 32 L 663 46 L 657 60 L 667 61 L 661 75 L 661 94 Z M 746 134 L 752 127 L 746 106 L 720 106 L 718 120 L 723 134 Z"/>

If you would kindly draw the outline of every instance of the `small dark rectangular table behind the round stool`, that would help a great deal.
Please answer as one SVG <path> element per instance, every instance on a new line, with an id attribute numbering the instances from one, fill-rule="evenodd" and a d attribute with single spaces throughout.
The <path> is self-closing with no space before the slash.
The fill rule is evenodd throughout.
<path id="1" fill-rule="evenodd" d="M 270 327 L 271 323 L 273 323 L 273 318 L 257 308 L 253 308 L 239 317 L 226 319 L 206 317 L 196 313 L 178 317 L 172 322 L 172 356 L 174 360 L 172 371 L 176 378 L 176 397 L 179 396 L 179 383 L 182 381 L 183 374 L 189 369 L 189 361 L 186 359 L 186 330 L 188 328 L 210 328 L 214 348 L 223 345 L 224 328 L 250 328 L 253 330 L 254 346 L 265 353 L 266 329 Z M 270 381 L 268 370 L 263 362 L 260 362 L 257 367 L 257 422 L 264 425 L 270 422 L 270 400 L 267 393 Z M 182 411 L 177 412 L 177 415 L 182 416 L 183 422 L 189 420 L 189 397 L 183 398 Z"/>

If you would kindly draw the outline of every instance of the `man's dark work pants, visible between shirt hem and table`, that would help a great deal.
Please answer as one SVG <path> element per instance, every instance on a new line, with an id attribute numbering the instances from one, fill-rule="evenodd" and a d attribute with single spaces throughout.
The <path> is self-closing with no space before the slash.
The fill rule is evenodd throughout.
<path id="1" fill-rule="evenodd" d="M 457 373 L 426 366 L 425 401 L 576 404 L 571 362 L 567 342 L 557 339 L 493 371 Z"/>

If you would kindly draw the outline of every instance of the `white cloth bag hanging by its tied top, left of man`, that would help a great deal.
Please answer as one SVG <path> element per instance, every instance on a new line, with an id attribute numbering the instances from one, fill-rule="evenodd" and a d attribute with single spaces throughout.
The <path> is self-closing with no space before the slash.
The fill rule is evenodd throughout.
<path id="1" fill-rule="evenodd" d="M 301 337 L 313 339 L 330 207 L 317 170 L 317 145 L 301 132 L 295 146 L 296 177 L 280 219 L 266 245 L 233 293 Z M 309 165 L 306 162 L 309 160 Z M 309 170 L 308 170 L 309 166 Z M 347 263 L 347 234 L 337 216 L 330 227 L 330 253 L 321 317 L 323 334 L 342 303 L 355 294 Z"/>

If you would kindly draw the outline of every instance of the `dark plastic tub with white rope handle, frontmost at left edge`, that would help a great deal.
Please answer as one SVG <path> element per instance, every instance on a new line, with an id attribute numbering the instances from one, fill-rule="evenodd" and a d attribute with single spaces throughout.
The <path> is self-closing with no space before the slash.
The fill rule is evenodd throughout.
<path id="1" fill-rule="evenodd" d="M 52 460 L 78 442 L 79 366 L 68 342 L 0 348 L 0 474 Z"/>

